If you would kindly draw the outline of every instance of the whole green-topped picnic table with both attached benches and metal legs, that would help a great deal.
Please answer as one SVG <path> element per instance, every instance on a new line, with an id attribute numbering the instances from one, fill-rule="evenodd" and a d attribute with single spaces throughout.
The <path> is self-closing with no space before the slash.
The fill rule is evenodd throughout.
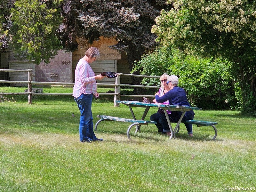
<path id="1" fill-rule="evenodd" d="M 186 111 L 189 110 L 202 110 L 202 108 L 195 108 L 195 107 L 187 107 L 187 106 L 172 106 L 172 105 L 164 105 L 164 104 L 155 104 L 155 103 L 143 103 L 143 102 L 139 102 L 139 101 L 118 101 L 116 100 L 117 103 L 123 103 L 124 105 L 127 105 L 130 108 L 130 111 L 132 113 L 132 117 L 133 119 L 126 119 L 126 118 L 120 118 L 120 117 L 113 117 L 113 116 L 105 116 L 105 115 L 98 115 L 97 117 L 100 118 L 100 120 L 95 124 L 95 131 L 97 131 L 97 126 L 101 121 L 107 120 L 107 121 L 119 121 L 119 122 L 129 122 L 132 123 L 128 129 L 127 129 L 127 137 L 128 139 L 130 138 L 130 131 L 132 129 L 133 126 L 136 125 L 136 130 L 135 133 L 137 133 L 138 131 L 140 132 L 140 125 L 148 125 L 148 124 L 156 124 L 155 121 L 145 121 L 145 117 L 148 113 L 149 108 L 151 107 L 160 107 L 162 109 L 164 109 L 164 113 L 166 118 L 168 117 L 168 114 L 166 112 L 166 110 L 172 110 L 172 111 L 182 111 L 182 116 L 180 117 L 180 120 L 177 122 L 177 125 L 175 126 L 175 129 L 172 130 L 172 125 L 170 123 L 169 118 L 167 118 L 167 122 L 168 125 L 170 127 L 171 133 L 172 135 L 170 136 L 170 139 L 172 139 L 172 137 L 175 137 L 175 134 L 177 134 L 180 130 L 180 123 L 188 123 L 188 124 L 196 124 L 197 127 L 201 127 L 201 126 L 212 126 L 212 128 L 215 131 L 215 135 L 212 138 L 212 140 L 214 140 L 217 137 L 217 129 L 214 125 L 218 124 L 217 122 L 208 122 L 208 121 L 201 121 L 201 120 L 187 120 L 187 121 L 182 121 L 183 116 L 185 115 Z M 135 115 L 133 113 L 132 107 L 144 107 L 145 111 L 141 117 L 140 120 L 135 118 Z"/>

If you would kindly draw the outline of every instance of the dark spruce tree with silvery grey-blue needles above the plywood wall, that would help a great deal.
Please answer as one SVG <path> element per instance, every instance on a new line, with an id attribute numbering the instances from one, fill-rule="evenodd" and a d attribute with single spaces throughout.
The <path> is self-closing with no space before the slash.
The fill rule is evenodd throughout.
<path id="1" fill-rule="evenodd" d="M 71 1 L 62 8 L 62 44 L 73 51 L 77 48 L 77 36 L 90 43 L 100 36 L 115 38 L 118 43 L 111 48 L 126 51 L 132 70 L 134 61 L 155 47 L 156 35 L 151 33 L 151 27 L 164 7 L 165 0 Z"/>

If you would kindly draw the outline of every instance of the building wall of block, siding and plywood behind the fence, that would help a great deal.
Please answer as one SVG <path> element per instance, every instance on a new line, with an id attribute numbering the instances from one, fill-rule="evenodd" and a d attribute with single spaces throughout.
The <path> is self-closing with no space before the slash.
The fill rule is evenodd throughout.
<path id="1" fill-rule="evenodd" d="M 97 61 L 92 63 L 92 68 L 95 74 L 98 75 L 104 71 L 114 71 L 119 73 L 129 73 L 129 65 L 127 63 L 127 56 L 125 52 L 118 53 L 115 50 L 109 48 L 109 45 L 116 44 L 114 39 L 101 38 L 99 41 L 93 44 L 84 44 L 84 46 L 79 45 L 79 49 L 73 53 L 64 52 L 60 50 L 58 54 L 51 60 L 49 64 L 40 63 L 40 65 L 35 65 L 33 67 L 33 81 L 39 82 L 74 82 L 75 80 L 75 68 L 78 60 L 82 58 L 88 47 L 95 46 L 100 49 L 101 57 Z M 122 55 L 122 56 L 121 56 Z M 4 55 L 1 55 L 1 58 Z M 14 57 L 12 51 L 8 52 L 8 68 L 15 69 L 28 69 L 31 66 L 28 64 L 33 64 L 33 61 L 27 61 L 24 58 Z M 25 65 L 26 64 L 26 65 Z M 1 67 L 2 64 L 1 64 Z M 35 71 L 34 71 L 35 70 Z M 12 73 L 14 75 L 14 73 Z M 6 77 L 4 77 L 6 75 Z M 2 77 L 3 76 L 3 77 Z M 9 79 L 10 73 L 0 74 L 0 78 Z M 16 76 L 15 76 L 16 77 Z M 17 76 L 19 77 L 19 76 Z M 23 77 L 23 76 L 22 76 Z M 25 78 L 25 77 L 24 77 Z M 16 79 L 15 79 L 16 80 Z M 21 80 L 18 78 L 17 80 Z M 104 78 L 99 83 L 115 83 L 114 79 Z M 121 83 L 130 84 L 131 77 L 122 76 Z"/>

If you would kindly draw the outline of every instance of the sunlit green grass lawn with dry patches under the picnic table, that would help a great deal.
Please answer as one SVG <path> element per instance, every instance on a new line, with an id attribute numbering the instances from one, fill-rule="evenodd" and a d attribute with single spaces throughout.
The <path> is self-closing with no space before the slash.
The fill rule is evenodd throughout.
<path id="1" fill-rule="evenodd" d="M 0 92 L 2 87 L 0 87 Z M 4 88 L 3 88 L 4 89 Z M 15 91 L 16 92 L 16 91 Z M 12 97 L 8 96 L 7 97 Z M 0 103 L 0 191 L 226 191 L 256 187 L 256 118 L 238 111 L 195 111 L 189 138 L 181 124 L 177 139 L 153 124 L 127 139 L 129 123 L 105 121 L 95 132 L 103 142 L 81 143 L 79 110 L 71 96 L 27 96 Z M 144 108 L 134 108 L 135 116 Z M 157 108 L 151 108 L 146 117 Z M 72 113 L 75 117 L 72 117 Z M 96 115 L 132 118 L 125 105 L 93 100 Z M 173 124 L 174 126 L 175 124 Z"/>

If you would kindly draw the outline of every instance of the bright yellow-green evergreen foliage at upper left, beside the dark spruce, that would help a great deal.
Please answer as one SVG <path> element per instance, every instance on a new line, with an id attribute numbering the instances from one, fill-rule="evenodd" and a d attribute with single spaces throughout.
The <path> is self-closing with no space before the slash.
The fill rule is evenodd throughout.
<path id="1" fill-rule="evenodd" d="M 36 64 L 50 62 L 61 49 L 57 33 L 62 23 L 59 4 L 47 0 L 16 0 L 11 17 L 15 52 L 35 60 Z"/>

